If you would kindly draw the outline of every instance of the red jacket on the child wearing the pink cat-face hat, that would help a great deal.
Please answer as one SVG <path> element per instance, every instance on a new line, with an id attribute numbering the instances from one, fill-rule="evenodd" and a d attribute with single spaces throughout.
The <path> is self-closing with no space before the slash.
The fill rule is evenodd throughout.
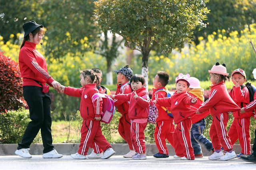
<path id="1" fill-rule="evenodd" d="M 193 98 L 187 93 L 175 92 L 170 98 L 156 99 L 156 104 L 171 107 L 174 122 L 176 124 L 195 115 L 196 108 L 190 105 Z"/>

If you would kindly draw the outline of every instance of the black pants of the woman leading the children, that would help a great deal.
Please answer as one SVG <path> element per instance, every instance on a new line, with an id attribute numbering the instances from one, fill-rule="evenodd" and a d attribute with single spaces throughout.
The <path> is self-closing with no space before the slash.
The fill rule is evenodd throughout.
<path id="1" fill-rule="evenodd" d="M 51 98 L 37 86 L 23 86 L 23 96 L 29 107 L 31 121 L 28 123 L 17 149 L 29 148 L 41 129 L 44 153 L 54 150 L 52 145 Z"/>

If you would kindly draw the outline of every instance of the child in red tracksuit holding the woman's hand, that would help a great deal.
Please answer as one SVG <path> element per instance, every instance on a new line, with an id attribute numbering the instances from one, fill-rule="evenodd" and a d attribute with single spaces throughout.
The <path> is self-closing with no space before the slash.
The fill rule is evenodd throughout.
<path id="1" fill-rule="evenodd" d="M 100 127 L 100 113 L 102 112 L 102 98 L 98 97 L 92 102 L 92 97 L 99 93 L 94 83 L 96 79 L 92 70 L 83 70 L 80 74 L 81 88 L 61 86 L 62 92 L 69 96 L 80 97 L 80 114 L 83 118 L 81 127 L 81 140 L 78 152 L 71 154 L 74 159 L 86 159 L 89 146 L 95 142 L 105 150 L 102 159 L 112 156 L 115 151 L 102 134 Z"/>

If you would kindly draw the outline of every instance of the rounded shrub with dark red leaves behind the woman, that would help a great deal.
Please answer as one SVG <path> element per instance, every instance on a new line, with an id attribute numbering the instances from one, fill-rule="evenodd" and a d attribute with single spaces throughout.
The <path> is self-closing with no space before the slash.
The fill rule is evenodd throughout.
<path id="1" fill-rule="evenodd" d="M 0 113 L 25 106 L 18 63 L 0 51 Z"/>

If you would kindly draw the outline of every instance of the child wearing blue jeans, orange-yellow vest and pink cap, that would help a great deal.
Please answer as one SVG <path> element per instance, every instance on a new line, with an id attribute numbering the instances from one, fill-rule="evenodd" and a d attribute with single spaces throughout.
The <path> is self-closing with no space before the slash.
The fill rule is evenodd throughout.
<path id="1" fill-rule="evenodd" d="M 192 97 L 198 98 L 196 104 L 193 107 L 199 108 L 204 102 L 204 89 L 200 87 L 200 81 L 197 78 L 190 77 L 188 81 L 190 84 L 188 88 L 188 94 Z M 209 114 L 210 112 L 206 111 L 202 114 L 197 114 L 192 117 L 193 124 L 190 131 L 190 138 L 192 147 L 194 149 L 195 158 L 203 157 L 200 144 L 204 145 L 208 151 L 214 151 L 212 142 L 203 135 L 205 129 L 204 118 Z"/>

